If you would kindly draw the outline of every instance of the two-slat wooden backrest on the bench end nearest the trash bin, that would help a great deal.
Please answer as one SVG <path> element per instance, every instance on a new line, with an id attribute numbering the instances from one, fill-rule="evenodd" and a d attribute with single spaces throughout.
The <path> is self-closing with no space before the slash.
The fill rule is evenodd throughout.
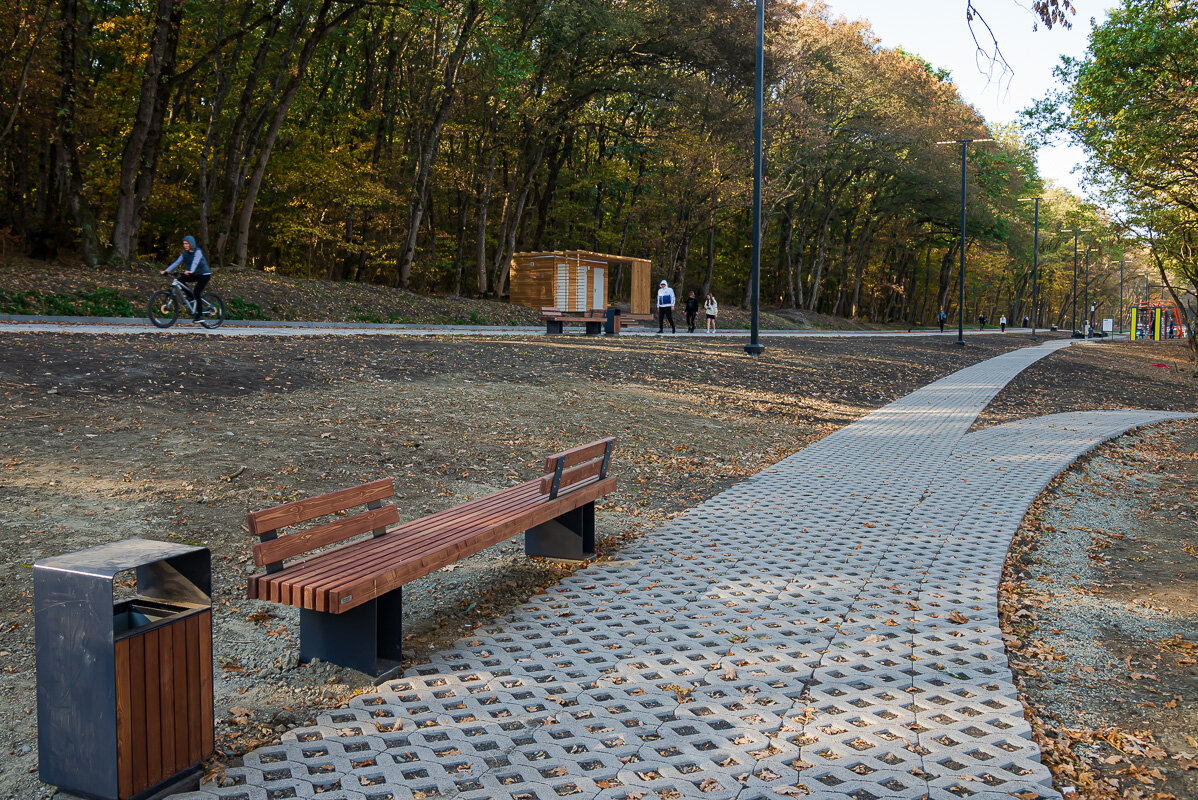
<path id="1" fill-rule="evenodd" d="M 381 537 L 387 532 L 388 525 L 399 522 L 399 511 L 395 507 L 382 504 L 382 501 L 394 496 L 394 483 L 391 478 L 383 478 L 361 486 L 284 503 L 264 511 L 253 511 L 246 516 L 246 527 L 261 540 L 254 545 L 254 563 L 266 566 L 267 572 L 277 572 L 283 569 L 285 558 L 335 545 L 367 532 Z M 367 509 L 352 516 L 279 535 L 283 528 L 303 525 L 329 514 L 340 514 L 358 505 L 365 505 Z"/>

